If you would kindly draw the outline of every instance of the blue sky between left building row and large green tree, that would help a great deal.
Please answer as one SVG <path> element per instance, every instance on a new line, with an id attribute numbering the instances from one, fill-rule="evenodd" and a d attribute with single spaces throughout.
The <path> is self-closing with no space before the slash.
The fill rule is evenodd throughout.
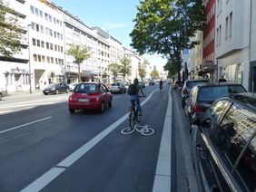
<path id="1" fill-rule="evenodd" d="M 89 27 L 99 26 L 129 49 L 129 34 L 133 31 L 139 0 L 51 0 L 64 10 L 78 16 Z M 162 71 L 166 60 L 158 55 L 143 55 L 152 65 Z"/>

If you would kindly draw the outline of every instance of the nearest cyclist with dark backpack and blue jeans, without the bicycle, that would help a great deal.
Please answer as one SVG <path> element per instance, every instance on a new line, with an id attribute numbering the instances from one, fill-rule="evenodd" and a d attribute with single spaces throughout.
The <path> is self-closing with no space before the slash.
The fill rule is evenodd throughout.
<path id="1" fill-rule="evenodd" d="M 139 112 L 139 116 L 142 116 L 142 106 L 141 106 L 141 103 L 140 103 L 140 97 L 141 97 L 141 95 L 140 95 L 140 92 L 141 92 L 141 94 L 142 94 L 142 96 L 144 97 L 145 95 L 144 95 L 144 93 L 143 93 L 143 89 L 142 89 L 142 87 L 140 86 L 140 84 L 139 84 L 139 81 L 138 81 L 138 79 L 137 78 L 135 78 L 134 80 L 133 80 L 133 84 L 134 84 L 134 87 L 135 87 L 135 89 L 136 89 L 136 91 L 135 91 L 135 94 L 130 94 L 130 101 L 131 101 L 131 103 L 132 103 L 132 105 L 134 106 L 134 103 L 136 102 L 137 103 L 137 110 L 138 110 L 138 112 Z"/>

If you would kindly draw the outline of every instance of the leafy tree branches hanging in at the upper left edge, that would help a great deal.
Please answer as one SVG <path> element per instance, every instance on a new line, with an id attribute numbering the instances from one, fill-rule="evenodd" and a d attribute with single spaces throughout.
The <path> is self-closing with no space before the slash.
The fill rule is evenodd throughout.
<path id="1" fill-rule="evenodd" d="M 25 30 L 18 24 L 15 11 L 0 0 L 0 53 L 5 59 L 20 53 L 22 49 L 21 36 Z"/>

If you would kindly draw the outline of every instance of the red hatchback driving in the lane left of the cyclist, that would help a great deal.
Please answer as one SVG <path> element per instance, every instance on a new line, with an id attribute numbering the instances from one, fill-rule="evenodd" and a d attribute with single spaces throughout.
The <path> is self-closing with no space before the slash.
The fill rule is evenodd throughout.
<path id="1" fill-rule="evenodd" d="M 72 95 L 69 96 L 68 109 L 70 113 L 74 110 L 100 110 L 112 107 L 112 94 L 101 82 L 82 82 L 74 87 Z"/>

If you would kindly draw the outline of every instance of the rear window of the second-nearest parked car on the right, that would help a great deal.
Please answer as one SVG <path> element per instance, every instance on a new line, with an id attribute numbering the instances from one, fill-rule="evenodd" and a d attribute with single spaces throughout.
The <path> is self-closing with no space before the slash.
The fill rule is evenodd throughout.
<path id="1" fill-rule="evenodd" d="M 245 92 L 239 85 L 202 87 L 198 93 L 197 101 L 215 101 L 231 93 Z"/>

